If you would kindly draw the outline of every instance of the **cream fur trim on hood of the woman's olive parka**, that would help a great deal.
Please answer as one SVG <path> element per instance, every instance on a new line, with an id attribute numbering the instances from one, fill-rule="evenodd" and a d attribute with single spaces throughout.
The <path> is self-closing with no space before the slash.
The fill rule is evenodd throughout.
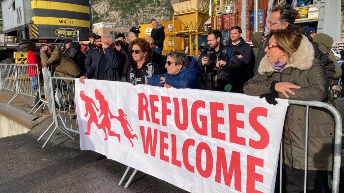
<path id="1" fill-rule="evenodd" d="M 306 36 L 302 37 L 301 45 L 300 47 L 291 54 L 288 63 L 285 67 L 292 67 L 299 69 L 301 71 L 308 70 L 312 67 L 314 60 L 314 48 L 312 46 L 312 43 L 308 40 Z M 258 67 L 258 73 L 259 74 L 266 74 L 269 72 L 278 72 L 277 70 L 272 68 L 271 63 L 267 59 L 266 55 L 263 57 L 263 59 L 260 62 L 260 65 Z"/>

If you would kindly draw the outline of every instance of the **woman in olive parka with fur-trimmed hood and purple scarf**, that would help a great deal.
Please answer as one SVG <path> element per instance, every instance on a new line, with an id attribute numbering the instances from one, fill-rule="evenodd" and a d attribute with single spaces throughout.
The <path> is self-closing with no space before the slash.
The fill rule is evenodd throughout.
<path id="1" fill-rule="evenodd" d="M 261 60 L 258 75 L 243 87 L 246 95 L 265 97 L 270 104 L 275 98 L 324 101 L 328 79 L 321 62 L 314 57 L 314 47 L 298 26 L 272 30 Z M 308 131 L 307 192 L 328 192 L 327 171 L 332 169 L 334 126 L 331 115 L 322 108 L 289 105 L 285 120 L 283 164 L 287 193 L 304 190 L 305 132 Z M 273 129 L 273 128 L 270 128 Z M 312 191 L 313 190 L 313 191 Z"/>

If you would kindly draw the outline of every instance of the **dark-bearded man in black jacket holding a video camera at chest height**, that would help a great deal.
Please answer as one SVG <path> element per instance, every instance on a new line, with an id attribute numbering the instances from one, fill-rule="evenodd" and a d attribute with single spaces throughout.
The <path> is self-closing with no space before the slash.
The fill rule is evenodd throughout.
<path id="1" fill-rule="evenodd" d="M 208 46 L 201 52 L 199 65 L 201 89 L 224 91 L 230 79 L 230 61 L 227 48 L 221 43 L 222 34 L 219 30 L 208 33 Z"/>

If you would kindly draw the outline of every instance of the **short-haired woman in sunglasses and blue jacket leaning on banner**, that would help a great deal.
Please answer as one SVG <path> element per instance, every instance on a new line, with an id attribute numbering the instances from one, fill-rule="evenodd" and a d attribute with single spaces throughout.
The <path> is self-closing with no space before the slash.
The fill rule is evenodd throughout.
<path id="1" fill-rule="evenodd" d="M 167 56 L 165 68 L 166 73 L 149 78 L 148 84 L 177 89 L 198 88 L 201 70 L 196 58 L 188 57 L 179 51 L 171 51 Z"/>

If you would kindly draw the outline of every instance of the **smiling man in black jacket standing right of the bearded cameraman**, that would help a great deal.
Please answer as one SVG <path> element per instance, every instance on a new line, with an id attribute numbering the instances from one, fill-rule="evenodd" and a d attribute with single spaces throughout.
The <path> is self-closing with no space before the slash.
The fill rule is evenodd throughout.
<path id="1" fill-rule="evenodd" d="M 239 26 L 232 26 L 230 28 L 230 40 L 228 47 L 230 51 L 234 53 L 234 58 L 242 63 L 241 69 L 236 69 L 231 71 L 231 85 L 235 84 L 231 92 L 234 93 L 244 93 L 242 87 L 250 79 L 251 75 L 251 64 L 254 65 L 252 60 L 253 52 L 249 44 L 241 37 L 242 30 Z M 232 59 L 234 59 L 232 58 Z M 253 69 L 252 69 L 253 71 Z"/>

